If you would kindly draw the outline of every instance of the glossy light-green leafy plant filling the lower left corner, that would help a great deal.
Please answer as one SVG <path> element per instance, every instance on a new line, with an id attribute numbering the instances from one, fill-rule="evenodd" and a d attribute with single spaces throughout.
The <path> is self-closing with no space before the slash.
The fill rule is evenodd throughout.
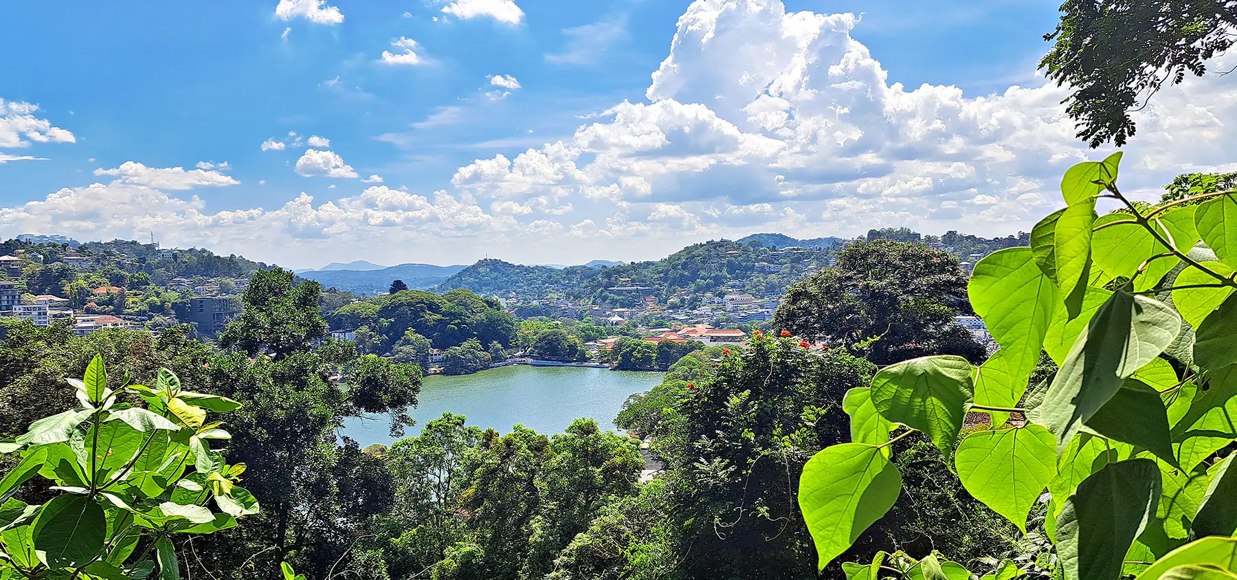
<path id="1" fill-rule="evenodd" d="M 157 566 L 161 579 L 178 579 L 173 537 L 219 532 L 257 513 L 236 485 L 245 465 L 228 465 L 210 448 L 231 435 L 207 413 L 239 403 L 184 391 L 166 369 L 155 387 L 126 377 L 110 388 L 98 355 L 83 380 L 68 382 L 77 407 L 0 441 L 0 453 L 21 456 L 0 480 L 0 578 L 142 579 Z M 53 482 L 53 497 L 17 500 L 35 476 Z"/>

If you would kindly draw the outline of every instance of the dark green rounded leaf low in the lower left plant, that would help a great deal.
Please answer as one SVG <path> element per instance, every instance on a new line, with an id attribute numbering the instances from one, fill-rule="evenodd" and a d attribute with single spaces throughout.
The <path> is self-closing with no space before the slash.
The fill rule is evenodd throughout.
<path id="1" fill-rule="evenodd" d="M 43 506 L 33 524 L 35 549 L 49 568 L 77 568 L 103 552 L 108 516 L 87 496 L 63 495 Z"/>

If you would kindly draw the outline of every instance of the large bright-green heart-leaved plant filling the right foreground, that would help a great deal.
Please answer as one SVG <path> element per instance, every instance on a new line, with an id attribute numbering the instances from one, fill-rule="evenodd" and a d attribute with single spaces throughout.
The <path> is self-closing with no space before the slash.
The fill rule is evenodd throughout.
<path id="1" fill-rule="evenodd" d="M 1032 246 L 976 265 L 971 304 L 1001 345 L 982 365 L 912 359 L 846 393 L 852 441 L 816 454 L 799 485 L 821 569 L 894 506 L 893 444 L 922 433 L 1022 531 L 1047 511 L 1055 558 L 996 563 L 997 580 L 1237 578 L 1237 197 L 1143 209 L 1117 188 L 1119 161 L 1070 168 L 1068 207 L 1034 228 Z M 1097 216 L 1098 199 L 1124 209 Z M 1028 390 L 1042 350 L 1059 370 Z M 959 441 L 967 412 L 999 427 Z M 941 559 L 881 552 L 844 570 L 970 576 Z"/>

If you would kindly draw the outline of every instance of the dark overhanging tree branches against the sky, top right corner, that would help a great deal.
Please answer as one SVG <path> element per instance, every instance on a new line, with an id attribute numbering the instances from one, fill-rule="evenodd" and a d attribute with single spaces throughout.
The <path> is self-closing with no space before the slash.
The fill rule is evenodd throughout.
<path id="1" fill-rule="evenodd" d="M 1237 0 L 1065 0 L 1039 68 L 1069 85 L 1066 113 L 1091 147 L 1134 135 L 1132 109 L 1164 84 L 1201 77 L 1233 43 Z"/>

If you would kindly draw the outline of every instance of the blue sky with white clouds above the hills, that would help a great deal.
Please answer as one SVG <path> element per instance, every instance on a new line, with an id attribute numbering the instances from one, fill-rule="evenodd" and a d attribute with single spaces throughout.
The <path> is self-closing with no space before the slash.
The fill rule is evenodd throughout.
<path id="1" fill-rule="evenodd" d="M 1055 2 L 928 4 L 12 5 L 0 236 L 153 231 L 314 267 L 1027 229 L 1053 176 L 1100 155 L 1035 75 Z M 1205 135 L 1226 89 L 1188 83 L 1163 111 L 1201 106 L 1183 126 Z M 1147 122 L 1180 129 L 1163 111 Z M 1147 192 L 1228 162 L 1153 141 L 1132 145 Z"/>

